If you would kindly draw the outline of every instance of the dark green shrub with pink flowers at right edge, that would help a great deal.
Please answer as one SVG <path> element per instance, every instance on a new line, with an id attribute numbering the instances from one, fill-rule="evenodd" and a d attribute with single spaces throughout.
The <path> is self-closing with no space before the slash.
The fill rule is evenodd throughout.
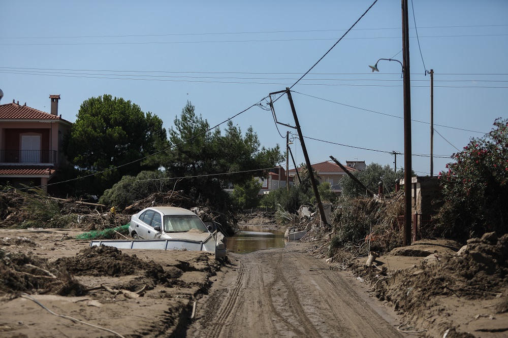
<path id="1" fill-rule="evenodd" d="M 439 173 L 441 235 L 458 240 L 508 232 L 508 119 L 498 118 L 483 138 L 472 138 Z M 442 230 L 444 229 L 444 233 Z"/>

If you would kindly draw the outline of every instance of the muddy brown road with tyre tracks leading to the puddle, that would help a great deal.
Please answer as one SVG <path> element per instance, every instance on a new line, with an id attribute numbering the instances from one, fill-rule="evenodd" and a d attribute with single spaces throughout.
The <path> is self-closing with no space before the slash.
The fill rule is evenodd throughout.
<path id="1" fill-rule="evenodd" d="M 305 249 L 230 254 L 233 268 L 198 302 L 187 337 L 403 336 L 390 309 Z"/>

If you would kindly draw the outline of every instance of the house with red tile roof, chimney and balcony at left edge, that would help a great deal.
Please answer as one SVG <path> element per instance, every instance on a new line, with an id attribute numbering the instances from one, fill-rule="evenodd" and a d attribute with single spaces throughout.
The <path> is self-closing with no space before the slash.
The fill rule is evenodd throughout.
<path id="1" fill-rule="evenodd" d="M 53 179 L 65 163 L 62 136 L 72 123 L 58 115 L 60 95 L 50 95 L 51 113 L 15 100 L 0 105 L 0 183 L 15 187 L 41 186 Z"/>

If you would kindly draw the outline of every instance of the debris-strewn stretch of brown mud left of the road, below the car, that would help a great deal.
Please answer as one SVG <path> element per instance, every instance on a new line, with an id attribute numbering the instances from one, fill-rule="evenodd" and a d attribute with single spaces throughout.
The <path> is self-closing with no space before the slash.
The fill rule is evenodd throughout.
<path id="1" fill-rule="evenodd" d="M 78 233 L 1 230 L 1 336 L 177 336 L 223 268 L 206 252 L 89 248 Z"/>

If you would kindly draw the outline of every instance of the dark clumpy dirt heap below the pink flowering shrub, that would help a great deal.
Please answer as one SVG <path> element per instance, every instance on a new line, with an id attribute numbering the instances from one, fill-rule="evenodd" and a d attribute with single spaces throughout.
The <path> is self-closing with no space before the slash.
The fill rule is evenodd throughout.
<path id="1" fill-rule="evenodd" d="M 395 302 L 395 307 L 404 311 L 431 307 L 430 299 L 441 295 L 508 298 L 507 256 L 508 234 L 497 238 L 494 232 L 486 233 L 481 239 L 468 240 L 456 254 L 433 254 L 420 266 L 395 272 L 392 278 L 378 284 L 379 297 Z M 396 290 L 394 285 L 404 288 Z"/>

